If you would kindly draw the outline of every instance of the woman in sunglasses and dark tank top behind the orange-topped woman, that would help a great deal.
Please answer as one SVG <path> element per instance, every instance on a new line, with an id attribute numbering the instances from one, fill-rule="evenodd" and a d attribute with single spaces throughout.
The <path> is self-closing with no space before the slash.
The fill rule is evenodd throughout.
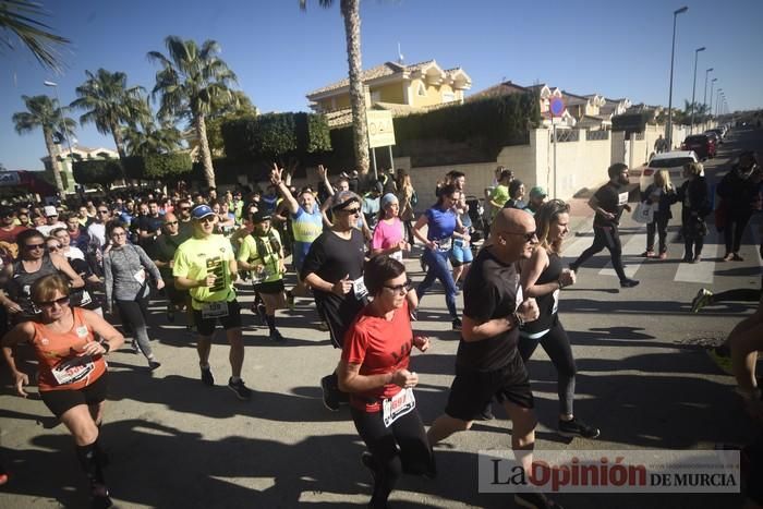
<path id="1" fill-rule="evenodd" d="M 26 230 L 16 237 L 19 258 L 3 267 L 0 287 L 2 305 L 11 316 L 12 324 L 34 319 L 39 308 L 32 301 L 32 286 L 44 276 L 62 274 L 71 288 L 85 286 L 85 281 L 74 271 L 66 258 L 46 251 L 45 238 L 37 230 Z"/>

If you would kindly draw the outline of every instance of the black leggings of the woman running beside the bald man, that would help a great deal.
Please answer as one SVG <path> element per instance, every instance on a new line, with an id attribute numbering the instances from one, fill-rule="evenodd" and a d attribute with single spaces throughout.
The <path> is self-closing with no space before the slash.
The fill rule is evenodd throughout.
<path id="1" fill-rule="evenodd" d="M 558 318 L 548 332 L 542 337 L 532 339 L 521 337 L 519 339 L 519 354 L 525 365 L 537 348 L 538 342 L 548 354 L 554 367 L 556 367 L 556 389 L 559 395 L 559 413 L 564 415 L 574 415 L 572 405 L 574 401 L 574 375 L 577 368 L 574 365 L 574 357 L 572 356 L 570 339 L 567 337 L 567 331 L 561 326 Z"/>

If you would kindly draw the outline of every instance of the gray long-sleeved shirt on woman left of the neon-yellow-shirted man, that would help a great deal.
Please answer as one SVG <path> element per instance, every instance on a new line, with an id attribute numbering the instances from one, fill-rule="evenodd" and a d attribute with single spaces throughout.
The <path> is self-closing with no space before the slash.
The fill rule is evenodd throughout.
<path id="1" fill-rule="evenodd" d="M 140 245 L 124 244 L 112 247 L 104 255 L 104 276 L 106 278 L 106 303 L 111 306 L 111 299 L 134 301 L 138 294 L 148 294 L 148 278 L 161 279 L 159 269 Z"/>

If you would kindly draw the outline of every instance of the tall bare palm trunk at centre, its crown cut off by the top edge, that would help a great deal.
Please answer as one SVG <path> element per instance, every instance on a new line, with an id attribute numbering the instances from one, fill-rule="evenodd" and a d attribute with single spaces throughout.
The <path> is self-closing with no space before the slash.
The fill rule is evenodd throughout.
<path id="1" fill-rule="evenodd" d="M 334 0 L 318 0 L 322 8 L 329 9 Z M 300 0 L 300 8 L 307 9 L 307 0 Z M 361 12 L 360 0 L 339 0 L 339 11 L 344 20 L 347 41 L 347 63 L 350 76 L 350 106 L 352 107 L 352 129 L 355 138 L 355 161 L 362 174 L 368 172 L 368 126 L 365 118 L 365 94 L 361 78 Z"/>

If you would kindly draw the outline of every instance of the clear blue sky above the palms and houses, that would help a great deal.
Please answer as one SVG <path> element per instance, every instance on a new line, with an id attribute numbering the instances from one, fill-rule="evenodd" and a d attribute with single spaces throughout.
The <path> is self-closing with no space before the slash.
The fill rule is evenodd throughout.
<path id="1" fill-rule="evenodd" d="M 53 94 L 75 99 L 85 70 L 122 71 L 129 85 L 154 85 L 150 50 L 165 52 L 167 35 L 215 39 L 221 58 L 239 76 L 261 111 L 306 110 L 305 94 L 347 75 L 339 0 L 325 10 L 308 0 L 43 0 L 48 23 L 73 44 L 64 51 L 62 75 L 43 70 L 26 50 L 0 52 L 0 162 L 9 169 L 41 169 L 41 132 L 19 135 L 11 116 L 24 111 L 22 95 Z M 763 99 L 763 1 L 735 0 L 363 0 L 363 66 L 396 60 L 435 59 L 460 65 L 472 78 L 471 93 L 511 80 L 547 83 L 576 94 L 628 97 L 667 105 L 673 11 L 678 16 L 674 105 L 691 99 L 694 49 L 697 97 L 704 77 L 717 77 L 731 109 L 760 108 Z M 710 88 L 710 87 L 708 87 Z M 75 113 L 78 118 L 80 113 Z M 111 137 L 89 124 L 76 133 L 85 146 L 113 147 Z"/>

